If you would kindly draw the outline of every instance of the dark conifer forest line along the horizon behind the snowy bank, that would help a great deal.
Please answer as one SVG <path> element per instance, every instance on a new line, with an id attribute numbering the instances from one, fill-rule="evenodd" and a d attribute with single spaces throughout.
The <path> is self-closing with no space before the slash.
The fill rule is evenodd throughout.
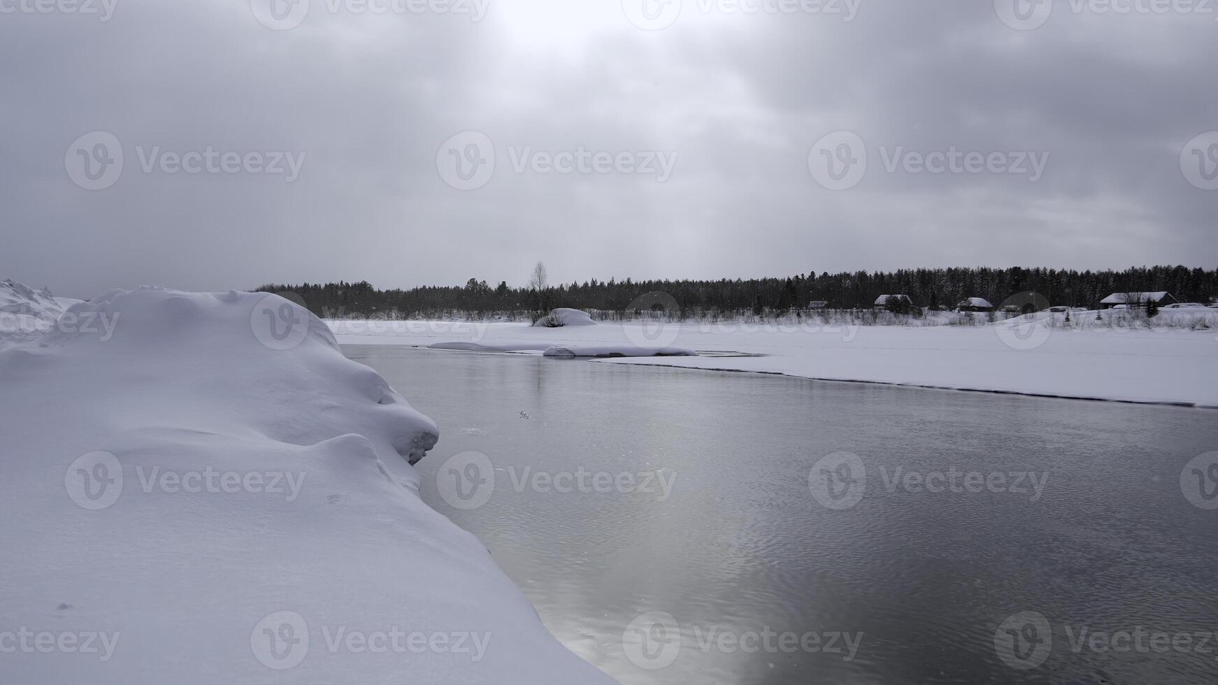
<path id="1" fill-rule="evenodd" d="M 538 273 L 540 270 L 540 273 Z M 541 285 L 538 288 L 537 285 Z M 292 292 L 323 318 L 408 319 L 431 315 L 519 315 L 555 307 L 632 314 L 637 309 L 665 310 L 681 316 L 734 313 L 775 313 L 806 309 L 826 302 L 831 309 L 871 308 L 882 294 L 907 294 L 917 307 L 952 309 L 966 297 L 982 297 L 1001 307 L 1021 293 L 1034 292 L 1040 302 L 1096 307 L 1114 292 L 1168 291 L 1179 302 L 1208 303 L 1218 296 L 1218 269 L 1135 266 L 1124 271 L 1068 271 L 1057 269 L 903 269 L 894 273 L 800 274 L 783 279 L 722 279 L 717 281 L 598 281 L 549 285 L 538 264 L 530 286 L 507 282 L 492 286 L 470 279 L 464 286 L 426 286 L 376 290 L 367 281 L 348 283 L 269 283 L 263 292 Z M 657 298 L 648 293 L 666 293 Z M 671 298 L 671 299 L 670 299 Z"/>

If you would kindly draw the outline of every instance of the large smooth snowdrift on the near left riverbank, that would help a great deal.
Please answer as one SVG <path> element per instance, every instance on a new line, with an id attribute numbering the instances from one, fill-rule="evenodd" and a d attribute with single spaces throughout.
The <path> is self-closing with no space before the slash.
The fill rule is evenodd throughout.
<path id="1" fill-rule="evenodd" d="M 435 423 L 307 311 L 139 290 L 63 315 L 114 325 L 0 350 L 0 681 L 609 681 L 423 504 Z"/>

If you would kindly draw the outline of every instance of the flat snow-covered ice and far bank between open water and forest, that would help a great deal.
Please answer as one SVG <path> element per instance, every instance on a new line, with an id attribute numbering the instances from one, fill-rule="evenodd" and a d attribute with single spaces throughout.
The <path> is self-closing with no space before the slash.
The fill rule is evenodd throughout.
<path id="1" fill-rule="evenodd" d="M 1033 314 L 1010 321 L 939 326 L 600 322 L 538 329 L 485 321 L 328 321 L 340 343 L 540 353 L 552 346 L 608 352 L 678 347 L 734 352 L 604 359 L 808 378 L 1218 408 L 1218 310 L 1161 310 L 1146 327 L 1125 313 Z M 1194 326 L 1200 321 L 1200 325 Z M 1067 327 L 1068 326 L 1068 327 Z M 1203 326 L 1208 326 L 1205 329 Z M 1197 327 L 1199 330 L 1191 330 Z"/>

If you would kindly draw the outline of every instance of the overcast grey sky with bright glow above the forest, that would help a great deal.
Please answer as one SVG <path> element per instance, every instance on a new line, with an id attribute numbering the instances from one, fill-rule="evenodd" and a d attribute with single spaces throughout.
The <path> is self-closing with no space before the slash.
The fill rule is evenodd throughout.
<path id="1" fill-rule="evenodd" d="M 0 0 L 0 277 L 1214 268 L 1195 1 Z"/>

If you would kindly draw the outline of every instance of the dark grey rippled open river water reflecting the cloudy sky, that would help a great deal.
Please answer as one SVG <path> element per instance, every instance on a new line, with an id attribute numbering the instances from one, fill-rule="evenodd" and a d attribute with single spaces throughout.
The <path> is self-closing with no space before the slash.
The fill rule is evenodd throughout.
<path id="1" fill-rule="evenodd" d="M 482 540 L 564 644 L 624 684 L 1218 681 L 1218 639 L 1208 655 L 1149 638 L 1145 650 L 1102 648 L 1139 627 L 1218 630 L 1218 511 L 1189 504 L 1180 483 L 1189 460 L 1218 449 L 1216 412 L 347 353 L 440 423 L 419 464 L 424 499 Z M 490 457 L 493 488 L 462 510 L 436 477 L 470 450 Z M 856 505 L 829 509 L 809 472 L 842 451 L 866 483 Z M 647 628 L 627 639 L 650 648 L 644 659 L 678 647 L 655 670 L 622 644 L 648 612 L 680 631 L 632 627 Z M 1019 612 L 1051 630 L 1035 668 L 1012 668 L 995 646 Z M 801 641 L 790 648 L 784 634 Z"/>

